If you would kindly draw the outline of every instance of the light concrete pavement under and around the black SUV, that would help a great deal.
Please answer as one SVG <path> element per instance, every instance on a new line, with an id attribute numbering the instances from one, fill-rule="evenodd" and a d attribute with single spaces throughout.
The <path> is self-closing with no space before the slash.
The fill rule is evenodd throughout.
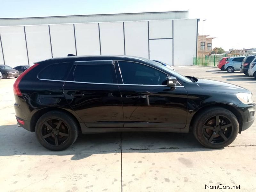
<path id="1" fill-rule="evenodd" d="M 245 87 L 256 101 L 253 77 L 211 67 L 175 69 Z M 71 148 L 52 152 L 35 133 L 17 127 L 14 80 L 0 80 L 1 191 L 212 191 L 211 186 L 239 185 L 237 191 L 256 190 L 256 122 L 218 150 L 202 147 L 191 133 L 127 132 L 80 135 Z"/>

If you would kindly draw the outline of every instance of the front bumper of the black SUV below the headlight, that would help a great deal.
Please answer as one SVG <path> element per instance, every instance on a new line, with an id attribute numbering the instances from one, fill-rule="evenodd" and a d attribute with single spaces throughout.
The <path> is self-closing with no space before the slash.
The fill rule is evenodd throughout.
<path id="1" fill-rule="evenodd" d="M 239 129 L 239 133 L 248 129 L 255 120 L 256 104 L 239 104 L 239 112 L 242 115 L 242 127 Z"/>

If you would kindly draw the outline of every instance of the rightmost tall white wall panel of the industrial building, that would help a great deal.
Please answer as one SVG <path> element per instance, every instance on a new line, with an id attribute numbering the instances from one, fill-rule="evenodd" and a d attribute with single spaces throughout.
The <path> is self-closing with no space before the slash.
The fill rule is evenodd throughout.
<path id="1" fill-rule="evenodd" d="M 173 64 L 193 65 L 196 56 L 196 19 L 173 21 Z"/>

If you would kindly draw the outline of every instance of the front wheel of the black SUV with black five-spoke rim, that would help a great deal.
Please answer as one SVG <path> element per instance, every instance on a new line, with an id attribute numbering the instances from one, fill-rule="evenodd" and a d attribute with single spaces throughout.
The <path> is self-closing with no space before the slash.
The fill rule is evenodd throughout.
<path id="1" fill-rule="evenodd" d="M 219 116 L 219 127 L 216 126 L 217 116 Z M 231 111 L 220 107 L 203 110 L 196 116 L 192 126 L 194 136 L 199 143 L 204 147 L 215 149 L 230 145 L 236 139 L 239 131 L 236 116 Z"/>

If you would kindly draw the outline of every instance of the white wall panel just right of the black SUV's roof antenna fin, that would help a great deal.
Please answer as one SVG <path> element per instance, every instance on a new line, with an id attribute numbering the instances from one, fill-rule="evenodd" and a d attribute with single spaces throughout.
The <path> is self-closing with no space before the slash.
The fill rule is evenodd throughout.
<path id="1" fill-rule="evenodd" d="M 77 55 L 100 55 L 98 23 L 75 24 Z"/>

